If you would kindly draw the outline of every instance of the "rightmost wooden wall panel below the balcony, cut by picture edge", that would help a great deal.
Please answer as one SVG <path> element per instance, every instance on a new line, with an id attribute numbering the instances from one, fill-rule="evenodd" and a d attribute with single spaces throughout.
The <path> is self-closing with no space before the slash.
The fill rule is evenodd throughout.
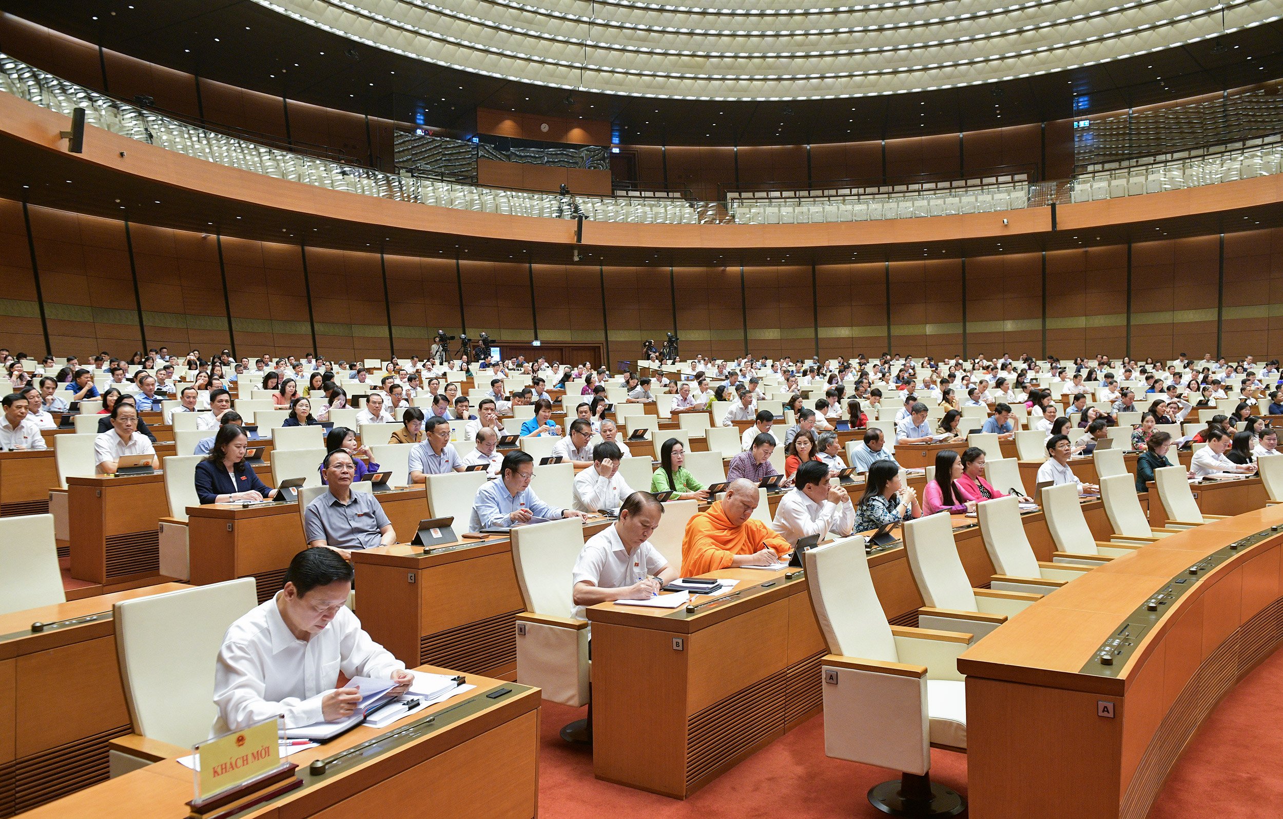
<path id="1" fill-rule="evenodd" d="M 1270 313 L 1278 304 L 1283 304 L 1283 230 L 1225 234 L 1221 354 L 1242 358 L 1266 349 L 1277 354 L 1283 347 L 1283 315 Z"/>

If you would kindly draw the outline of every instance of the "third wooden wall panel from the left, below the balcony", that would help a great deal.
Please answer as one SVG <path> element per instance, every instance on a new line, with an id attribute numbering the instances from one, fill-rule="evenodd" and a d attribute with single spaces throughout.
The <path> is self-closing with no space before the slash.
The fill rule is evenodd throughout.
<path id="1" fill-rule="evenodd" d="M 218 237 L 151 225 L 131 225 L 130 236 L 148 347 L 207 357 L 230 348 Z"/>

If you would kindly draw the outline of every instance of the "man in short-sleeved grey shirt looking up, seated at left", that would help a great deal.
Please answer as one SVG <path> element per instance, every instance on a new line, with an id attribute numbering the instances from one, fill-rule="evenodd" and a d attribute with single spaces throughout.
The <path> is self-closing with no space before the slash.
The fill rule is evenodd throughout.
<path id="1" fill-rule="evenodd" d="M 325 547 L 352 558 L 353 549 L 396 543 L 384 506 L 368 492 L 353 492 L 357 466 L 346 449 L 335 449 L 321 465 L 328 492 L 308 503 L 303 534 L 309 547 Z"/>

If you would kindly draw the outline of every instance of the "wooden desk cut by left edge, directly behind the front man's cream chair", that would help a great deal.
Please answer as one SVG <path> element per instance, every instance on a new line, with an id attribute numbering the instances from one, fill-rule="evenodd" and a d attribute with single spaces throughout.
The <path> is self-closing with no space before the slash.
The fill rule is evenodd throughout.
<path id="1" fill-rule="evenodd" d="M 0 816 L 106 779 L 108 741 L 131 732 L 112 606 L 185 588 L 167 583 L 0 615 Z M 53 625 L 90 615 L 98 616 Z M 33 634 L 36 621 L 50 626 Z"/>

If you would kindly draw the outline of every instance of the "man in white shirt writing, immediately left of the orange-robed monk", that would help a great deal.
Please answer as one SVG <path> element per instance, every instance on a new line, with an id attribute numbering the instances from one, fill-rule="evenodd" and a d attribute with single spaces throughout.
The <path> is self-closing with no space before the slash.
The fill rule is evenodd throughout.
<path id="1" fill-rule="evenodd" d="M 649 599 L 676 580 L 681 566 L 671 566 L 648 538 L 659 525 L 663 504 L 648 492 L 625 498 L 613 526 L 588 539 L 571 574 L 577 620 L 586 606 L 616 599 Z"/>

